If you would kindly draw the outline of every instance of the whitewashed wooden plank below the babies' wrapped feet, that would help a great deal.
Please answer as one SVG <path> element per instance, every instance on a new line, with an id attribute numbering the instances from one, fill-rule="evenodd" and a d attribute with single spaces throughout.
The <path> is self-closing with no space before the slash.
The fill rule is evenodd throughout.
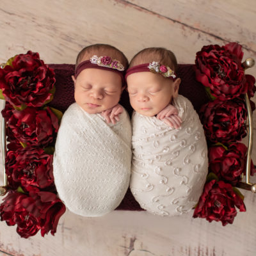
<path id="1" fill-rule="evenodd" d="M 254 255 L 255 204 L 246 193 L 248 211 L 233 225 L 208 223 L 184 216 L 159 218 L 146 212 L 115 211 L 101 218 L 81 218 L 67 212 L 56 236 L 21 239 L 14 227 L 0 223 L 1 248 L 24 255 Z M 236 244 L 237 246 L 234 246 Z M 2 249 L 2 250 L 3 250 Z M 147 253 L 146 253 L 147 252 Z M 215 253 L 215 254 L 214 254 Z M 14 255 L 17 255 L 13 253 Z"/>

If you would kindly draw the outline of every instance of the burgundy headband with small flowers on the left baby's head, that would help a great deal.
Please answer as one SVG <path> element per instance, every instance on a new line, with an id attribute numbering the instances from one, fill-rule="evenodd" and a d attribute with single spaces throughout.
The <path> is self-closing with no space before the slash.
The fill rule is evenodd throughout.
<path id="1" fill-rule="evenodd" d="M 93 55 L 90 60 L 82 61 L 76 67 L 75 70 L 75 78 L 86 68 L 99 68 L 104 70 L 109 70 L 116 72 L 122 78 L 122 82 L 124 83 L 124 66 L 118 60 L 112 60 L 109 56 L 96 56 Z"/>

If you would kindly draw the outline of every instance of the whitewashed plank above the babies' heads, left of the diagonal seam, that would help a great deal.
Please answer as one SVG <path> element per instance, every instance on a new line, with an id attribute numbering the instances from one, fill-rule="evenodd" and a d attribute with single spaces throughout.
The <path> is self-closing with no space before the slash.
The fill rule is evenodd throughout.
<path id="1" fill-rule="evenodd" d="M 74 63 L 85 45 L 104 42 L 122 49 L 129 58 L 144 47 L 163 46 L 172 49 L 180 63 L 193 63 L 195 52 L 203 45 L 223 44 L 214 35 L 134 8 L 127 1 L 100 0 L 99 5 L 92 0 L 72 4 L 63 0 L 61 5 L 50 0 L 19 3 L 1 1 L 4 9 L 0 8 L 0 29 L 2 38 L 8 38 L 0 42 L 3 61 L 31 49 L 40 52 L 47 63 Z M 164 3 L 170 2 L 161 1 Z"/>

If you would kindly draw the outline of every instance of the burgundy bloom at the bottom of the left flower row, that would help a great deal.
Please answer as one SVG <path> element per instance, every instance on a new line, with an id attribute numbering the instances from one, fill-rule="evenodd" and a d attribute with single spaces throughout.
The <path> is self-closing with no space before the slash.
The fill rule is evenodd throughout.
<path id="1" fill-rule="evenodd" d="M 0 205 L 1 221 L 17 224 L 17 233 L 24 238 L 34 236 L 41 229 L 44 236 L 54 235 L 65 205 L 54 193 L 30 191 L 29 195 L 11 191 Z"/>

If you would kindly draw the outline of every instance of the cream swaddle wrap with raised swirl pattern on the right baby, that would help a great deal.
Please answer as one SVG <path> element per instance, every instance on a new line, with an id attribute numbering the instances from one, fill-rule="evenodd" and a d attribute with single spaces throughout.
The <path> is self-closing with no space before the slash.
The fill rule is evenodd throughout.
<path id="1" fill-rule="evenodd" d="M 182 95 L 173 106 L 183 120 L 180 129 L 155 116 L 132 115 L 130 188 L 143 209 L 162 216 L 191 210 L 208 171 L 207 144 L 196 111 Z"/>

